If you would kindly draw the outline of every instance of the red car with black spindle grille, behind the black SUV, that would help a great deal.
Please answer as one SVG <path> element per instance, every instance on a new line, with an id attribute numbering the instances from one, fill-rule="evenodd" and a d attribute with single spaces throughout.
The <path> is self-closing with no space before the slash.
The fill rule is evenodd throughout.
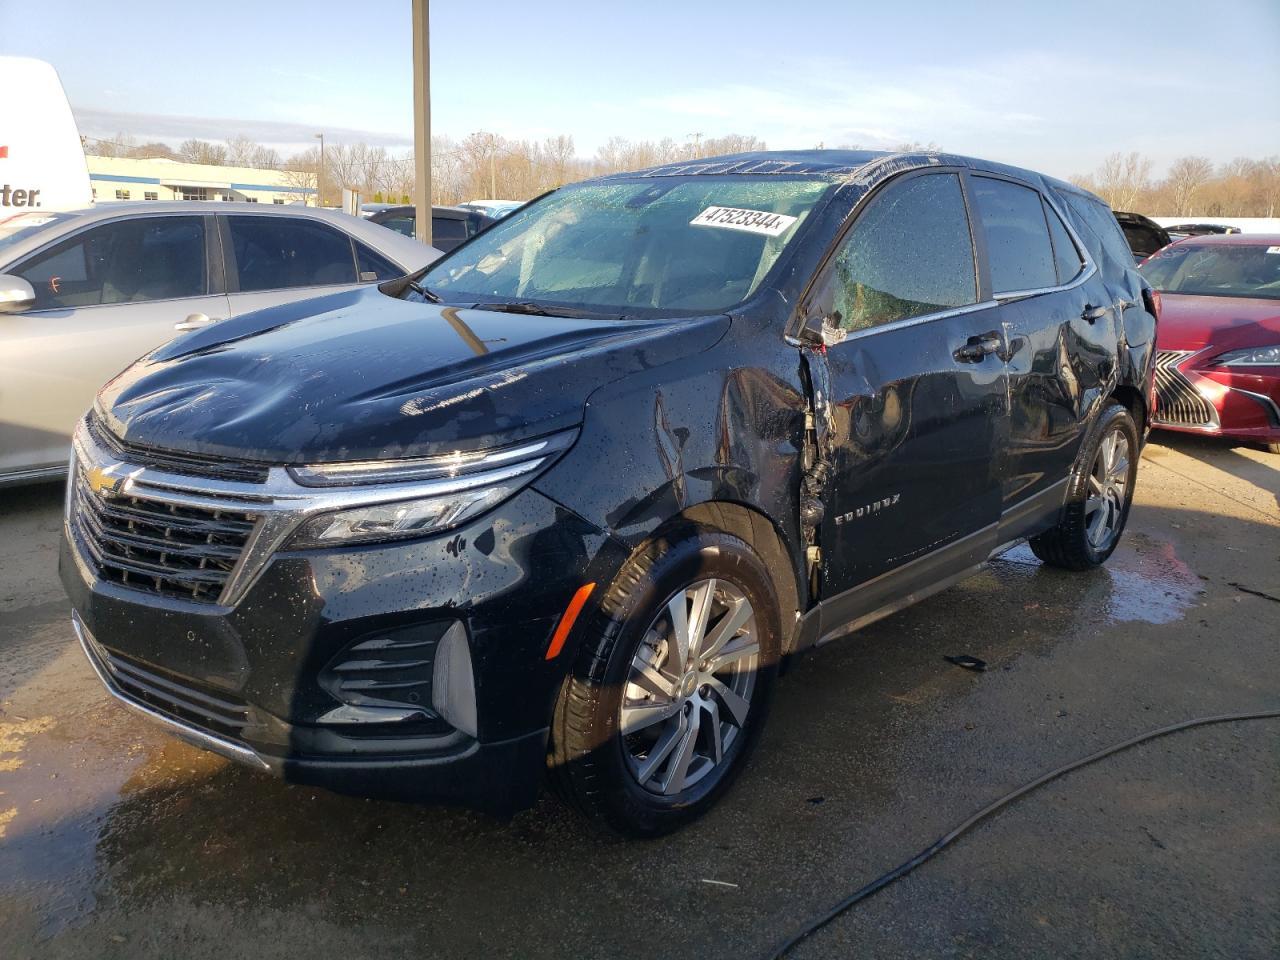
<path id="1" fill-rule="evenodd" d="M 1152 425 L 1280 453 L 1280 236 L 1188 237 L 1139 269 L 1162 307 Z"/>

